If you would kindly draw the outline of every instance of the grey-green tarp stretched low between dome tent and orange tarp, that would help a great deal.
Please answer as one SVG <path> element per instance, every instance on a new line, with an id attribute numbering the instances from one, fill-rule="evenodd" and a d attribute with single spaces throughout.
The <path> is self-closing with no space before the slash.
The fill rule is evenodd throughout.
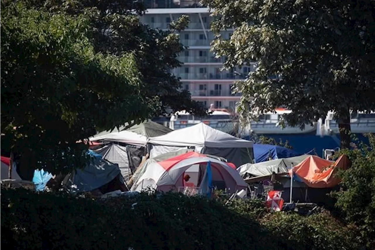
<path id="1" fill-rule="evenodd" d="M 309 156 L 310 155 L 300 155 L 295 157 L 264 161 L 255 164 L 246 163 L 237 168 L 237 171 L 242 177 L 244 177 L 245 175 L 267 176 L 272 175 L 273 172 L 287 173 L 288 169 L 290 169 L 291 167 L 291 164 L 293 164 L 293 166 L 296 166 Z"/>

